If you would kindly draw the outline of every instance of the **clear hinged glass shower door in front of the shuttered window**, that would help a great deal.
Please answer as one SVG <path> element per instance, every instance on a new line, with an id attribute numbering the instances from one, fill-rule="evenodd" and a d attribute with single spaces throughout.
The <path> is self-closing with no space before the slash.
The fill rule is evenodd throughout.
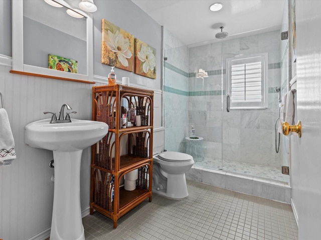
<path id="1" fill-rule="evenodd" d="M 222 92 L 225 92 L 222 95 L 222 159 L 225 171 L 287 181 L 281 174 L 282 140 L 280 151 L 275 151 L 275 121 L 279 116 L 275 88 L 282 87 L 280 42 L 279 30 L 233 39 L 227 37 L 222 41 Z M 257 54 L 266 54 L 267 58 L 254 70 L 250 64 L 258 64 L 254 59 Z M 249 61 L 250 58 L 254 61 Z M 234 59 L 245 59 L 245 63 L 240 64 Z M 229 63 L 232 61 L 234 65 Z M 261 69 L 260 76 L 257 72 L 252 73 L 256 69 Z M 251 78 L 251 74 L 255 76 Z M 263 77 L 259 90 L 256 88 L 259 81 L 255 77 Z M 261 91 L 264 86 L 265 95 Z M 256 93 L 249 99 L 248 94 L 252 94 L 250 90 Z M 250 104 L 231 107 L 227 111 L 227 94 L 230 105 L 238 101 Z M 242 94 L 247 96 L 238 100 Z M 258 99 L 257 94 L 262 94 L 262 98 Z M 252 103 L 258 100 L 266 101 L 266 106 L 253 106 Z"/>

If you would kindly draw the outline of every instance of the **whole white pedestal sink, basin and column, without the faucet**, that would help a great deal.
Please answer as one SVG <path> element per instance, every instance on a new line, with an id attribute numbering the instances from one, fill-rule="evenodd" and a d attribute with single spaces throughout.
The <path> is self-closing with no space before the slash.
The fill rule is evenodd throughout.
<path id="1" fill-rule="evenodd" d="M 71 119 L 67 123 L 34 121 L 25 126 L 25 142 L 52 150 L 55 190 L 50 240 L 85 239 L 80 206 L 80 162 L 82 150 L 108 132 L 101 121 Z"/>

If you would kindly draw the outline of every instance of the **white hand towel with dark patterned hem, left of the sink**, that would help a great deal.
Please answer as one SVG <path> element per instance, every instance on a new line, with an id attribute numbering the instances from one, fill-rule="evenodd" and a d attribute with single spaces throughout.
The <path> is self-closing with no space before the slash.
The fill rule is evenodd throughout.
<path id="1" fill-rule="evenodd" d="M 0 162 L 15 158 L 15 140 L 11 131 L 8 113 L 5 108 L 0 108 Z"/>

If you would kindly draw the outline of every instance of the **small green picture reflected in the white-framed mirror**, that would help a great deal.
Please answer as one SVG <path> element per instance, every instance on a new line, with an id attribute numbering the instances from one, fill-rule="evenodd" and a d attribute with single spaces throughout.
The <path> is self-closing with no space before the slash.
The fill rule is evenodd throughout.
<path id="1" fill-rule="evenodd" d="M 49 54 L 48 68 L 77 73 L 78 61 L 62 56 Z"/>

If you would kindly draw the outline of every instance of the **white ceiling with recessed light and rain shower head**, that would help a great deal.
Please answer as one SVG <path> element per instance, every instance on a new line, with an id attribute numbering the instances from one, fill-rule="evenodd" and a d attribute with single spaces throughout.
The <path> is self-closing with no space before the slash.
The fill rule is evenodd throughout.
<path id="1" fill-rule="evenodd" d="M 280 29 L 285 0 L 132 0 L 186 45 L 215 41 L 224 26 L 229 37 Z M 209 10 L 215 2 L 223 9 Z M 254 32 L 253 32 L 254 31 Z M 245 34 L 244 34 L 245 33 Z"/>

